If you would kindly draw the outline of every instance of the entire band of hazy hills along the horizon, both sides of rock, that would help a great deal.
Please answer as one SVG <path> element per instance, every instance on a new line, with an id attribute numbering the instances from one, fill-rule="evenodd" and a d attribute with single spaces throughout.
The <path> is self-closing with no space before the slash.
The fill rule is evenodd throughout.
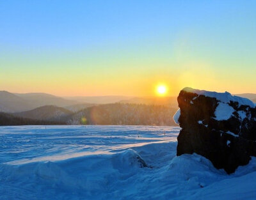
<path id="1" fill-rule="evenodd" d="M 237 96 L 256 102 L 256 94 Z M 172 116 L 177 108 L 174 96 L 63 98 L 45 93 L 0 91 L 0 125 L 175 125 Z"/>

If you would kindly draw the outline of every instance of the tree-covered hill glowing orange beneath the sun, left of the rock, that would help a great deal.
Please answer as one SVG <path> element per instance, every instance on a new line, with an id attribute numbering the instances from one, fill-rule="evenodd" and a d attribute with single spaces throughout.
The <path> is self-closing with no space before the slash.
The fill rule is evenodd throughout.
<path id="1" fill-rule="evenodd" d="M 70 125 L 164 125 L 176 126 L 172 116 L 177 108 L 167 105 L 104 104 L 76 112 Z"/>

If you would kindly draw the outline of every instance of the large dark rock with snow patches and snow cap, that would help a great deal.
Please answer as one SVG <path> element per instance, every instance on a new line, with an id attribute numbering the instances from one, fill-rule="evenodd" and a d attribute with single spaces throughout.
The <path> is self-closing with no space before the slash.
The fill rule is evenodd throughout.
<path id="1" fill-rule="evenodd" d="M 174 119 L 182 130 L 177 155 L 198 153 L 234 173 L 256 156 L 256 108 L 246 98 L 184 88 Z"/>

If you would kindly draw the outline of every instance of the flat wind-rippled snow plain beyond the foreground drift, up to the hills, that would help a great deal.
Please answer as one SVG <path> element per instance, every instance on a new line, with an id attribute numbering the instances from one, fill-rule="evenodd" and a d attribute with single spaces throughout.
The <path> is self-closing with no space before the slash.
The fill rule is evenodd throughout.
<path id="1" fill-rule="evenodd" d="M 179 130 L 143 126 L 0 127 L 0 162 L 25 164 L 115 153 L 152 142 L 177 141 Z"/>

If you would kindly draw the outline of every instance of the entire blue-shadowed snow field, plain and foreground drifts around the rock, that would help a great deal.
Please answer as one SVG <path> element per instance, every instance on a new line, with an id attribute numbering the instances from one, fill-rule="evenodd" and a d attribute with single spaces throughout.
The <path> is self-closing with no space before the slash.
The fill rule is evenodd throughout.
<path id="1" fill-rule="evenodd" d="M 0 127 L 0 199 L 256 199 L 256 158 L 227 175 L 176 157 L 179 130 Z"/>

